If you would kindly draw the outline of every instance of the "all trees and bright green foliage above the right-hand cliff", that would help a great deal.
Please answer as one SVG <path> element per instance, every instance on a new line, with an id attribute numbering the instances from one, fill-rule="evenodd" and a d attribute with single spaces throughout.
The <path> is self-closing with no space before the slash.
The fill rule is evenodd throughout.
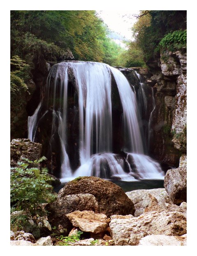
<path id="1" fill-rule="evenodd" d="M 160 48 L 186 46 L 186 11 L 141 11 L 133 26 L 137 46 L 149 62 L 160 56 Z"/>

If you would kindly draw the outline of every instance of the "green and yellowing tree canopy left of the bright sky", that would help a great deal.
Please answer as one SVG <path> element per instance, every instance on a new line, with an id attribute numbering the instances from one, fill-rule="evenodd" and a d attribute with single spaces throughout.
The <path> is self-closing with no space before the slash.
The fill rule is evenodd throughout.
<path id="1" fill-rule="evenodd" d="M 117 46 L 107 34 L 95 11 L 11 11 L 11 55 L 26 61 L 29 53 L 57 61 L 69 47 L 76 60 L 110 63 Z"/>

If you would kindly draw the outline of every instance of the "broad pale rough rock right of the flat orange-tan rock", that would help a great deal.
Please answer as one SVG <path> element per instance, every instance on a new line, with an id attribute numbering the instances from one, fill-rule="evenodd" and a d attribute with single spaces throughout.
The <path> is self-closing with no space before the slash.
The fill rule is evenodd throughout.
<path id="1" fill-rule="evenodd" d="M 186 217 L 181 212 L 147 212 L 140 217 L 112 219 L 110 229 L 115 245 L 138 245 L 147 235 L 186 234 Z"/>

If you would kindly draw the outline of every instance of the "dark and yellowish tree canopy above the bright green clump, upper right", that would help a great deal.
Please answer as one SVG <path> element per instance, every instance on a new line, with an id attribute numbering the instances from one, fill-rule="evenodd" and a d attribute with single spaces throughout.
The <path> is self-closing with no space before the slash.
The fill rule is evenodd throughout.
<path id="1" fill-rule="evenodd" d="M 133 26 L 137 46 L 145 62 L 159 56 L 159 43 L 168 33 L 186 30 L 186 11 L 141 11 Z"/>

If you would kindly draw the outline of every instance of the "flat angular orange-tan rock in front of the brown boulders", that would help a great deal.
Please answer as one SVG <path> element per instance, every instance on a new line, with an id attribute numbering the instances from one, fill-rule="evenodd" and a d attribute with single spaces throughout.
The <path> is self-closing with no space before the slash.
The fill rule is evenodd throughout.
<path id="1" fill-rule="evenodd" d="M 107 229 L 110 219 L 105 214 L 92 211 L 75 211 L 66 214 L 73 226 L 79 227 L 81 231 L 100 233 Z"/>

